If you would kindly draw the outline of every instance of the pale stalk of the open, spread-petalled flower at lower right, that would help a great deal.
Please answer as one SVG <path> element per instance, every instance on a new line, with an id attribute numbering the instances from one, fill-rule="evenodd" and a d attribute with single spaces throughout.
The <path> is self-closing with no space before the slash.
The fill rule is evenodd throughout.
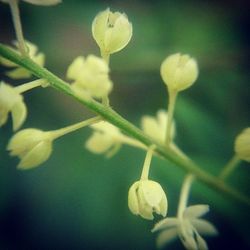
<path id="1" fill-rule="evenodd" d="M 177 212 L 178 218 L 182 218 L 183 212 L 185 208 L 187 207 L 187 201 L 188 201 L 189 192 L 190 192 L 190 188 L 191 188 L 193 180 L 194 180 L 194 176 L 189 174 L 185 177 L 183 181 L 179 205 L 178 205 L 178 212 Z"/>

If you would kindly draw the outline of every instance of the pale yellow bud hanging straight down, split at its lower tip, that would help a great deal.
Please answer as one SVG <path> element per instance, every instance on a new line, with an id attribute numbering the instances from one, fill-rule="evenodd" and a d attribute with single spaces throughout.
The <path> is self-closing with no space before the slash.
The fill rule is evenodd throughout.
<path id="1" fill-rule="evenodd" d="M 135 182 L 128 192 L 128 206 L 135 215 L 152 220 L 153 212 L 166 216 L 167 197 L 161 185 L 155 181 L 140 180 Z"/>

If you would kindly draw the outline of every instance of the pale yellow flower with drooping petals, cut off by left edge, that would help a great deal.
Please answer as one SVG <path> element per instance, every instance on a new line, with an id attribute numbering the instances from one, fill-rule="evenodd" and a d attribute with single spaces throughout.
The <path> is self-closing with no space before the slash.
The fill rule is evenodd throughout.
<path id="1" fill-rule="evenodd" d="M 27 117 L 23 96 L 11 85 L 0 83 L 0 127 L 7 122 L 9 113 L 13 120 L 13 130 L 19 129 Z"/>

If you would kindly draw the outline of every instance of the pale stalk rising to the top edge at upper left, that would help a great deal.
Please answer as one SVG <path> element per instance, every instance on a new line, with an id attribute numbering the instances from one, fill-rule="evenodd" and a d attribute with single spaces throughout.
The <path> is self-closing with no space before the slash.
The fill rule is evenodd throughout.
<path id="1" fill-rule="evenodd" d="M 16 37 L 17 37 L 20 53 L 23 56 L 28 56 L 24 37 L 23 37 L 23 30 L 22 30 L 22 25 L 21 25 L 18 0 L 10 0 L 9 5 L 10 5 L 11 15 L 13 19 L 13 24 L 14 24 L 14 28 L 16 32 Z"/>

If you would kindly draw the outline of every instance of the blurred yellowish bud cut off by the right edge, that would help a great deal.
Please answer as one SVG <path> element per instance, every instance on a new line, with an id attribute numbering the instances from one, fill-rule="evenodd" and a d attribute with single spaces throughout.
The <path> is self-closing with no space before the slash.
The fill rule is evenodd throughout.
<path id="1" fill-rule="evenodd" d="M 241 160 L 250 162 L 250 128 L 244 129 L 236 137 L 234 150 Z"/>

